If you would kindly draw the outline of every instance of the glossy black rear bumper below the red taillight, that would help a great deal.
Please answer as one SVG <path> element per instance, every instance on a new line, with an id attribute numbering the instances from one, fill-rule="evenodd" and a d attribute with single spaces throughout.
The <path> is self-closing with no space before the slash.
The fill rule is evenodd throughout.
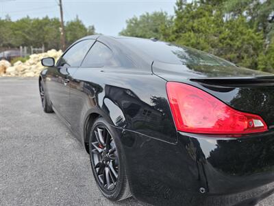
<path id="1" fill-rule="evenodd" d="M 140 201 L 255 205 L 274 192 L 274 132 L 238 139 L 178 133 L 177 144 L 170 144 L 117 130 L 129 186 Z"/>

